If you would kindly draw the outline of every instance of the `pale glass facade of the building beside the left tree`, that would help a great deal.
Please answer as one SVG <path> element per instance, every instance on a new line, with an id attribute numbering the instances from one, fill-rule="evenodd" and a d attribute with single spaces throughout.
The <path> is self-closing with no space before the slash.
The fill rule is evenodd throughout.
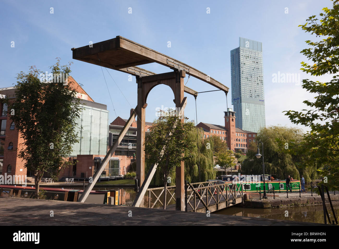
<path id="1" fill-rule="evenodd" d="M 109 127 L 107 106 L 86 100 L 80 100 L 80 103 L 83 108 L 77 120 L 80 141 L 73 145 L 70 156 L 106 155 Z"/>

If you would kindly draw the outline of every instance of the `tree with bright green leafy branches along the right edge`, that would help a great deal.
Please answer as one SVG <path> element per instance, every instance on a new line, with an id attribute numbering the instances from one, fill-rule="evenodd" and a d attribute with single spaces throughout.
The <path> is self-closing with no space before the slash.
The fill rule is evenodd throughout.
<path id="1" fill-rule="evenodd" d="M 306 19 L 299 25 L 310 35 L 316 35 L 316 41 L 307 40 L 309 48 L 300 53 L 311 63 L 301 62 L 301 70 L 312 76 L 331 75 L 329 82 L 304 79 L 302 87 L 315 93 L 314 101 L 305 100 L 308 108 L 299 111 L 285 111 L 294 124 L 309 128 L 298 150 L 307 153 L 309 162 L 316 163 L 322 182 L 331 190 L 339 188 L 339 5 L 333 1 L 333 8 L 323 8 L 319 14 Z"/>

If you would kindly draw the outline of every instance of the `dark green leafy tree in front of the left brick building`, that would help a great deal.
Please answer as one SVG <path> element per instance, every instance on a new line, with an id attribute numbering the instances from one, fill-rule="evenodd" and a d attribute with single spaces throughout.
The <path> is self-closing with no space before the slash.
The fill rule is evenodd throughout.
<path id="1" fill-rule="evenodd" d="M 62 82 L 62 74 L 71 70 L 68 65 L 60 66 L 59 58 L 50 68 L 56 76 L 50 82 L 40 82 L 41 71 L 35 66 L 27 74 L 21 71 L 15 100 L 6 99 L 8 112 L 14 110 L 10 117 L 24 139 L 18 156 L 35 175 L 36 198 L 44 172 L 57 178 L 66 164 L 73 163 L 64 158 L 69 155 L 71 145 L 78 142 L 75 120 L 79 118 L 80 102 L 74 97 L 76 91 Z"/>

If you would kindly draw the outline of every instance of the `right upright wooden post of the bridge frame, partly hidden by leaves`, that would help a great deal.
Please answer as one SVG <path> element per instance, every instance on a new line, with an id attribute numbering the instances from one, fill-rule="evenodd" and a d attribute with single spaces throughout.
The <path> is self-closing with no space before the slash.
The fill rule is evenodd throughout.
<path id="1" fill-rule="evenodd" d="M 181 103 L 184 99 L 184 78 L 185 71 L 177 71 L 176 72 L 176 90 L 175 90 L 175 107 L 180 108 Z M 184 112 L 182 112 L 182 117 Z M 184 122 L 184 119 L 181 119 L 181 122 Z M 176 210 L 185 211 L 185 163 L 181 161 L 181 167 L 176 168 L 175 175 L 175 198 L 176 198 Z"/>

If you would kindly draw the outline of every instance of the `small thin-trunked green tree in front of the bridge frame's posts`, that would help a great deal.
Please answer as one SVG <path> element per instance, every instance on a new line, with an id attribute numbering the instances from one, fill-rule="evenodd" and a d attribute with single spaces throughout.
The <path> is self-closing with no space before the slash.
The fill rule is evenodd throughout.
<path id="1" fill-rule="evenodd" d="M 187 119 L 187 118 L 184 118 Z M 164 183 L 164 209 L 166 209 L 166 187 L 171 183 L 169 174 L 181 167 L 181 161 L 192 157 L 194 140 L 189 135 L 194 130 L 192 122 L 182 123 L 177 116 L 160 116 L 153 123 L 145 140 L 147 163 L 157 164 Z"/>

